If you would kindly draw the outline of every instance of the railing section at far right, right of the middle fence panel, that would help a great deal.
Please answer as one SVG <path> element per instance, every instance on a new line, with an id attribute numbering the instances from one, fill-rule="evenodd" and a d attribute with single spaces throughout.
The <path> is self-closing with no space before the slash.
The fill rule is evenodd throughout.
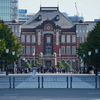
<path id="1" fill-rule="evenodd" d="M 75 86 L 77 85 L 77 86 Z M 71 76 L 70 88 L 100 88 L 100 77 Z"/>

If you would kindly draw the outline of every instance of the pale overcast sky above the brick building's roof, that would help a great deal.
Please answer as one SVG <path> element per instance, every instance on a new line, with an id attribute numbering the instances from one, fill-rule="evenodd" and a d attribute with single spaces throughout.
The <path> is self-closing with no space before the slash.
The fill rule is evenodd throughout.
<path id="1" fill-rule="evenodd" d="M 79 15 L 83 15 L 85 21 L 93 21 L 100 18 L 100 0 L 19 0 L 19 9 L 27 9 L 28 13 L 37 13 L 41 7 L 57 7 L 60 12 L 66 12 L 69 16 L 76 15 L 76 7 Z"/>

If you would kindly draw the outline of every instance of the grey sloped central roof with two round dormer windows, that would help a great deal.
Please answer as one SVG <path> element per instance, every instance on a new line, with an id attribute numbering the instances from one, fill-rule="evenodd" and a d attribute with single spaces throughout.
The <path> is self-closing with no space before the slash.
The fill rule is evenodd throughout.
<path id="1" fill-rule="evenodd" d="M 40 7 L 39 12 L 26 21 L 22 25 L 22 28 L 36 28 L 47 19 L 53 21 L 55 25 L 61 28 L 72 28 L 74 26 L 72 21 L 59 11 L 58 7 Z"/>

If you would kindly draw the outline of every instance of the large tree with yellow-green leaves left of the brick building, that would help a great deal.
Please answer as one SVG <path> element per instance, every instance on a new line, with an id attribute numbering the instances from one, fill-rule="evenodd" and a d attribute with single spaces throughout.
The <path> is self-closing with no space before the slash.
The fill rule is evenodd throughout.
<path id="1" fill-rule="evenodd" d="M 20 54 L 22 52 L 21 43 L 18 42 L 18 38 L 13 34 L 9 26 L 2 20 L 0 20 L 0 43 L 0 48 L 2 49 L 2 52 L 0 52 L 0 59 L 5 60 L 5 63 L 7 60 L 5 49 L 9 49 L 8 64 L 11 64 L 17 59 L 16 55 L 12 55 L 12 51 L 15 51 L 16 54 Z"/>

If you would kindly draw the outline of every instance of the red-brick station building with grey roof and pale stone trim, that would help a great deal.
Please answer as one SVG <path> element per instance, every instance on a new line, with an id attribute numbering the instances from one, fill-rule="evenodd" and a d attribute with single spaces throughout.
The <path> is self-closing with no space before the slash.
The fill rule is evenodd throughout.
<path id="1" fill-rule="evenodd" d="M 22 56 L 31 65 L 35 60 L 45 67 L 62 61 L 68 62 L 73 69 L 79 69 L 83 65 L 77 59 L 77 48 L 86 41 L 95 22 L 72 22 L 59 11 L 59 7 L 40 7 L 28 21 L 14 20 L 7 24 L 21 41 Z"/>

